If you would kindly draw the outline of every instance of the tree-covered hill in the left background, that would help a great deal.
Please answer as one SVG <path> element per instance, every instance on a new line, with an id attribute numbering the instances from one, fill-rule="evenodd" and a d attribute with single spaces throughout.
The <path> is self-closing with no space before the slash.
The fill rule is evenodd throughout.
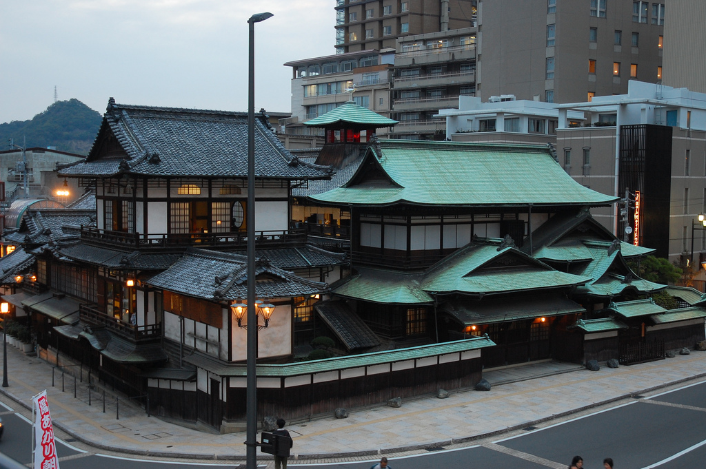
<path id="1" fill-rule="evenodd" d="M 88 154 L 102 117 L 78 99 L 57 101 L 30 121 L 0 124 L 0 150 L 9 150 L 8 140 L 27 147 L 56 147 L 62 152 Z"/>

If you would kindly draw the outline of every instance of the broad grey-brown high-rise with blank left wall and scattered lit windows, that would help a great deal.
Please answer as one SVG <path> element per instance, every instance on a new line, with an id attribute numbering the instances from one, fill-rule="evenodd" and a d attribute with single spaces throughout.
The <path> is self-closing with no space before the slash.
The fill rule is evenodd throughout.
<path id="1" fill-rule="evenodd" d="M 665 0 L 481 0 L 477 95 L 584 102 L 662 78 Z"/>

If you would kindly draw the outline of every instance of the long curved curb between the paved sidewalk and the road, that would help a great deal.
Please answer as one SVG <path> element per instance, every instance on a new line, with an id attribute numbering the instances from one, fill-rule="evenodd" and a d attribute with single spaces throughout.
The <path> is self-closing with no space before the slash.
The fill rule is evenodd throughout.
<path id="1" fill-rule="evenodd" d="M 674 381 L 671 381 L 671 382 L 665 382 L 662 384 L 657 384 L 655 386 L 650 386 L 645 389 L 641 389 L 640 391 L 633 391 L 630 393 L 621 394 L 620 396 L 615 396 L 613 398 L 604 399 L 603 401 L 590 403 L 590 404 L 587 404 L 586 406 L 573 408 L 570 410 L 566 410 L 565 412 L 557 413 L 554 415 L 549 415 L 547 417 L 539 418 L 537 420 L 530 420 L 527 422 L 522 422 L 520 424 L 512 425 L 510 427 L 505 427 L 500 430 L 494 430 L 493 432 L 475 434 L 475 435 L 470 435 L 468 437 L 443 439 L 443 440 L 438 440 L 438 441 L 429 441 L 427 443 L 413 444 L 413 445 L 408 445 L 408 446 L 396 446 L 396 447 L 390 447 L 390 448 L 366 449 L 366 450 L 361 450 L 361 451 L 342 451 L 342 452 L 338 452 L 338 453 L 294 454 L 293 459 L 295 461 L 309 461 L 309 460 L 316 460 L 316 459 L 356 458 L 356 457 L 364 457 L 364 456 L 376 456 L 379 454 L 405 453 L 408 451 L 438 449 L 438 448 L 443 448 L 443 446 L 450 446 L 450 445 L 455 445 L 455 444 L 466 444 L 471 441 L 477 441 L 480 439 L 496 437 L 501 434 L 514 432 L 515 430 L 522 430 L 523 428 L 532 427 L 534 425 L 539 425 L 544 422 L 549 422 L 551 420 L 563 418 L 568 415 L 573 415 L 576 413 L 584 412 L 585 410 L 590 410 L 592 408 L 596 408 L 599 406 L 605 406 L 606 404 L 614 403 L 617 401 L 623 401 L 624 399 L 628 399 L 628 398 L 634 398 L 634 397 L 639 396 L 641 394 L 650 393 L 652 391 L 664 389 L 668 386 L 675 386 L 677 384 L 690 382 L 690 381 L 693 381 L 696 379 L 701 379 L 703 377 L 706 377 L 706 372 L 694 374 L 693 376 L 690 376 L 690 377 L 675 379 Z M 25 408 L 27 410 L 32 410 L 32 406 L 23 402 L 22 399 L 18 398 L 18 396 L 11 393 L 11 391 L 8 391 L 5 388 L 0 388 L 0 392 L 2 394 L 4 394 L 5 396 L 7 396 L 8 398 L 11 398 L 13 401 L 18 403 L 23 408 Z M 94 448 L 103 449 L 105 451 L 114 451 L 114 452 L 119 452 L 119 453 L 133 454 L 136 456 L 152 456 L 152 457 L 156 457 L 156 458 L 184 458 L 184 459 L 198 459 L 198 460 L 204 460 L 204 461 L 245 461 L 246 460 L 246 455 L 244 455 L 244 454 L 242 454 L 242 455 L 241 454 L 218 455 L 218 454 L 206 454 L 206 453 L 180 453 L 177 451 L 150 451 L 150 450 L 133 449 L 133 448 L 128 448 L 128 447 L 124 447 L 124 446 L 109 446 L 107 444 L 100 443 L 99 441 L 93 441 L 89 438 L 83 437 L 82 435 L 80 435 L 76 432 L 73 432 L 73 430 L 71 430 L 70 428 L 61 424 L 61 422 L 54 421 L 53 423 L 54 423 L 54 425 L 56 425 L 56 427 L 58 427 L 61 431 L 65 432 L 66 434 L 71 436 L 73 439 L 76 439 L 77 441 L 80 441 L 84 444 L 88 444 Z M 70 441 L 67 441 L 67 443 L 70 443 Z M 261 461 L 268 461 L 268 460 L 272 459 L 272 456 L 265 455 L 265 454 L 263 454 L 263 455 L 258 454 L 258 459 Z"/>

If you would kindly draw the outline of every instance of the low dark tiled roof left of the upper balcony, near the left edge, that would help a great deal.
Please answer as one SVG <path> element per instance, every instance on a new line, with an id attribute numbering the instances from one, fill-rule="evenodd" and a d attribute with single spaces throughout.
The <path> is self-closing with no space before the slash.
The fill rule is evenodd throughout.
<path id="1" fill-rule="evenodd" d="M 20 228 L 4 234 L 16 243 L 49 243 L 80 236 L 80 226 L 95 226 L 92 209 L 28 209 Z"/>

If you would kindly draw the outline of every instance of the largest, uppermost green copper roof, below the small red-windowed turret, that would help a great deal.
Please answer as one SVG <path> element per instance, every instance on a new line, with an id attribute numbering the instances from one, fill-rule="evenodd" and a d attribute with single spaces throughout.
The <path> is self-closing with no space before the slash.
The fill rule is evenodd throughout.
<path id="1" fill-rule="evenodd" d="M 351 181 L 311 196 L 352 205 L 608 205 L 616 197 L 585 188 L 549 147 L 380 140 Z"/>

